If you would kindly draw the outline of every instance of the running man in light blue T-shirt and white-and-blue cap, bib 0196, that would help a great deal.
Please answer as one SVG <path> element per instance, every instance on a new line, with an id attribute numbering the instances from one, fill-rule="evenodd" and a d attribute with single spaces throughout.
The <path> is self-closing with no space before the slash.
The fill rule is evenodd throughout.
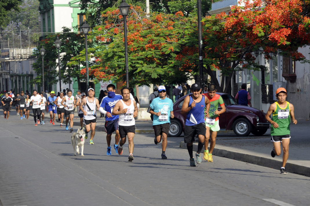
<path id="1" fill-rule="evenodd" d="M 167 137 L 170 129 L 170 117 L 174 118 L 173 102 L 166 97 L 166 88 L 158 87 L 159 97 L 153 99 L 150 104 L 150 113 L 153 114 L 153 129 L 155 132 L 154 143 L 162 141 L 162 159 L 167 159 L 165 154 L 167 147 Z"/>

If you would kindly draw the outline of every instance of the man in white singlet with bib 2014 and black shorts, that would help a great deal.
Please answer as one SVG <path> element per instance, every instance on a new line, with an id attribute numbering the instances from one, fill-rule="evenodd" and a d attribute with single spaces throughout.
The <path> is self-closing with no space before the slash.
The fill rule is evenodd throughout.
<path id="1" fill-rule="evenodd" d="M 118 130 L 121 140 L 119 141 L 119 155 L 123 153 L 123 145 L 128 137 L 129 156 L 128 161 L 134 159 L 134 137 L 135 137 L 135 117 L 138 115 L 138 107 L 135 101 L 130 99 L 129 88 L 124 87 L 121 90 L 123 99 L 118 101 L 113 109 L 112 115 L 118 115 Z"/>

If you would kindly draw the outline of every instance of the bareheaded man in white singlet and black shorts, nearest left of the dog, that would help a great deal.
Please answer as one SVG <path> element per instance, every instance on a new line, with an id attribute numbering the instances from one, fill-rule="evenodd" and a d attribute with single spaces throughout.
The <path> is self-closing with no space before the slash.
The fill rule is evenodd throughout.
<path id="1" fill-rule="evenodd" d="M 74 109 L 76 108 L 75 99 L 72 96 L 72 91 L 69 89 L 67 95 L 61 101 L 61 105 L 64 106 L 64 114 L 66 115 L 66 130 L 69 129 L 68 122 L 70 118 L 70 132 L 73 131 L 73 118 Z"/>

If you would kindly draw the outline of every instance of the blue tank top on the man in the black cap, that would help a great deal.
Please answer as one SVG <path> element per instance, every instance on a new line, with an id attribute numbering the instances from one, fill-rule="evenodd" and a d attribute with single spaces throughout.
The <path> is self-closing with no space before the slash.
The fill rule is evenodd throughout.
<path id="1" fill-rule="evenodd" d="M 193 97 L 192 95 L 190 95 L 188 106 L 190 106 L 193 103 L 193 101 L 194 101 Z M 193 109 L 189 110 L 189 112 L 186 114 L 185 125 L 193 126 L 199 123 L 204 123 L 205 122 L 205 107 L 206 107 L 206 100 L 205 100 L 205 96 L 202 95 L 201 101 L 197 102 L 196 106 L 193 107 Z"/>

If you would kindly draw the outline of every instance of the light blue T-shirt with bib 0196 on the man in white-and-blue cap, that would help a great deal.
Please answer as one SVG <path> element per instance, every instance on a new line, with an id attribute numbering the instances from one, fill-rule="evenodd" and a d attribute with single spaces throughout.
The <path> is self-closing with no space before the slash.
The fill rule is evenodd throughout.
<path id="1" fill-rule="evenodd" d="M 153 99 L 150 107 L 153 109 L 154 112 L 161 112 L 163 114 L 161 116 L 153 114 L 153 125 L 165 123 L 170 124 L 170 112 L 173 111 L 173 102 L 171 99 L 169 99 L 168 97 L 166 97 L 165 99 L 157 97 Z"/>

